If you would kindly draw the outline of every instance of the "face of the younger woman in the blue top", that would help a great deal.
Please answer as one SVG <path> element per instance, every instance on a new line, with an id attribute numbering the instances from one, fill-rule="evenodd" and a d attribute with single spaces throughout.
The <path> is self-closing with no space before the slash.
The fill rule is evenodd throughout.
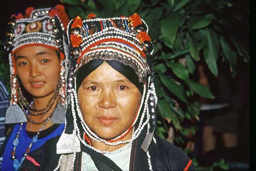
<path id="1" fill-rule="evenodd" d="M 17 75 L 33 97 L 54 93 L 60 73 L 56 51 L 42 46 L 25 47 L 14 54 Z"/>

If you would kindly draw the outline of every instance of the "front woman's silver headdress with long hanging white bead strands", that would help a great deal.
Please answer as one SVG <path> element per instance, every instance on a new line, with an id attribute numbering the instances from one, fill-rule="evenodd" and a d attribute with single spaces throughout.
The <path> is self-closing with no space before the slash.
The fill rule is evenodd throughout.
<path id="1" fill-rule="evenodd" d="M 154 87 L 154 72 L 148 67 L 146 61 L 146 56 L 150 56 L 153 53 L 153 44 L 150 36 L 147 35 L 147 32 L 148 28 L 146 23 L 137 13 L 130 17 L 89 17 L 85 20 L 82 20 L 77 16 L 69 23 L 68 38 L 71 49 L 71 66 L 69 69 L 67 89 L 69 112 L 66 114 L 67 124 L 65 132 L 62 133 L 57 143 L 57 154 L 65 154 L 65 152 L 61 152 L 60 149 L 60 146 L 65 148 L 63 145 L 64 143 L 62 142 L 65 141 L 65 139 L 62 138 L 62 136 L 72 136 L 74 154 L 72 160 L 73 165 L 70 167 L 70 170 L 73 170 L 76 153 L 80 152 L 80 149 L 77 149 L 79 146 L 77 143 L 81 142 L 84 146 L 101 154 L 120 153 L 123 149 L 129 148 L 144 129 L 147 129 L 147 135 L 142 143 L 142 149 L 148 157 L 148 169 L 152 170 L 151 157 L 147 149 L 153 139 L 153 133 L 156 126 L 155 108 L 157 104 L 157 96 Z M 113 140 L 107 141 L 101 139 L 90 129 L 82 118 L 76 93 L 76 73 L 81 66 L 94 59 L 120 61 L 124 65 L 133 68 L 139 77 L 139 81 L 144 84 L 140 109 L 133 125 L 131 125 L 131 127 L 133 127 L 136 124 L 136 129 L 134 130 L 132 138 L 129 140 L 121 141 L 120 139 L 130 130 L 125 131 L 122 135 Z M 82 130 L 79 129 L 78 125 L 81 125 Z M 128 145 L 116 152 L 100 151 L 84 140 L 84 133 L 90 138 L 107 145 L 119 145 L 125 143 Z M 77 142 L 77 139 L 80 142 Z M 61 155 L 55 170 L 60 168 L 62 158 L 63 155 Z"/>

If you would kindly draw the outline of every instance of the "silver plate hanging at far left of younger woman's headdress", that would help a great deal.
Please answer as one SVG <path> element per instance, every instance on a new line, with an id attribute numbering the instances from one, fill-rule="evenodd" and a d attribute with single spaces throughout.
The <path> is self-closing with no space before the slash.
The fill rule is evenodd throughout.
<path id="1" fill-rule="evenodd" d="M 10 105 L 6 111 L 5 123 L 23 123 L 27 118 L 19 105 Z"/>

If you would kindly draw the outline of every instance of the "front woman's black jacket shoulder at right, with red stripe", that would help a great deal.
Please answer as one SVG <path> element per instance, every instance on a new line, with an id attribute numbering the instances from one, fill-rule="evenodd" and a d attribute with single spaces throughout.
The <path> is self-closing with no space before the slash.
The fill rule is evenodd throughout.
<path id="1" fill-rule="evenodd" d="M 196 167 L 192 163 L 191 159 L 189 159 L 181 148 L 160 138 L 157 135 L 154 137 L 156 139 L 158 152 L 160 153 L 159 157 L 163 158 L 163 161 L 168 161 L 168 165 L 172 170 L 196 170 Z"/>

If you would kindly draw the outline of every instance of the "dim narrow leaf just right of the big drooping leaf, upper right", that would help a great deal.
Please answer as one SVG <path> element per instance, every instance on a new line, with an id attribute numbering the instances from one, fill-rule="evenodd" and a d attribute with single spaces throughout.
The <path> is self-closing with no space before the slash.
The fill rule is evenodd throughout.
<path id="1" fill-rule="evenodd" d="M 224 37 L 220 37 L 220 42 L 222 52 L 229 62 L 231 72 L 236 72 L 235 68 L 237 66 L 237 53 L 230 48 L 230 46 L 225 41 Z"/>

